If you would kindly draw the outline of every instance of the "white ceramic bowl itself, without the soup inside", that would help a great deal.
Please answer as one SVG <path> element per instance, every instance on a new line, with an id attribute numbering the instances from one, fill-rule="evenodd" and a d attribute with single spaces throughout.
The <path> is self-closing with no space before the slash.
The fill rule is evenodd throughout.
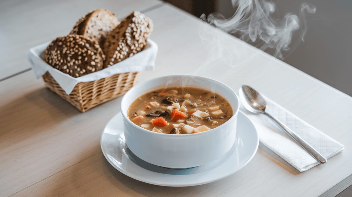
<path id="1" fill-rule="evenodd" d="M 165 88 L 165 84 L 168 87 L 201 87 L 216 92 L 229 101 L 233 116 L 212 130 L 184 135 L 157 133 L 131 122 L 127 116 L 131 103 L 147 92 Z M 129 149 L 148 163 L 176 169 L 204 165 L 225 155 L 234 145 L 238 111 L 239 99 L 230 87 L 219 81 L 194 75 L 169 75 L 144 81 L 132 87 L 121 101 Z"/>

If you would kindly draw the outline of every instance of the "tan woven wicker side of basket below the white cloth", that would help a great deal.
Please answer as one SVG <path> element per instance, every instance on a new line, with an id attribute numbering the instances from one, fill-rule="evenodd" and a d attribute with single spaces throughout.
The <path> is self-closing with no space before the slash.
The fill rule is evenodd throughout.
<path id="1" fill-rule="evenodd" d="M 67 95 L 49 72 L 43 75 L 47 88 L 77 107 L 81 112 L 121 96 L 137 84 L 140 72 L 114 74 L 96 81 L 80 82 Z"/>

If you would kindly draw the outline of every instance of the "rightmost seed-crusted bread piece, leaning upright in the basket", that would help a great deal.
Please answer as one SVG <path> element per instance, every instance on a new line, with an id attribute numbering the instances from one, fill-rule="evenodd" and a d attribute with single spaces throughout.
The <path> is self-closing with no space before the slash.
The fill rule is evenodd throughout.
<path id="1" fill-rule="evenodd" d="M 153 31 L 153 22 L 144 14 L 134 11 L 111 31 L 105 40 L 104 68 L 116 64 L 138 53 L 146 45 Z"/>

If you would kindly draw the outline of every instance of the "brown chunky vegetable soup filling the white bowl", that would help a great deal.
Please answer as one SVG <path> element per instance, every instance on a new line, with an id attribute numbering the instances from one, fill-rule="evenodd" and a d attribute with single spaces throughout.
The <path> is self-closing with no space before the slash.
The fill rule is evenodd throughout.
<path id="1" fill-rule="evenodd" d="M 217 93 L 194 87 L 173 87 L 146 93 L 128 109 L 130 120 L 144 129 L 171 134 L 208 131 L 233 115 Z"/>

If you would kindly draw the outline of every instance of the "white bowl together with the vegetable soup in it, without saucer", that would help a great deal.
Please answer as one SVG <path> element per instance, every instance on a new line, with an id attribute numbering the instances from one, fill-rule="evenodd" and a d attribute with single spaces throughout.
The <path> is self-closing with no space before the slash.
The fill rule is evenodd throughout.
<path id="1" fill-rule="evenodd" d="M 236 146 L 239 99 L 227 85 L 195 75 L 168 75 L 132 87 L 121 101 L 128 148 L 165 168 L 215 161 Z"/>

